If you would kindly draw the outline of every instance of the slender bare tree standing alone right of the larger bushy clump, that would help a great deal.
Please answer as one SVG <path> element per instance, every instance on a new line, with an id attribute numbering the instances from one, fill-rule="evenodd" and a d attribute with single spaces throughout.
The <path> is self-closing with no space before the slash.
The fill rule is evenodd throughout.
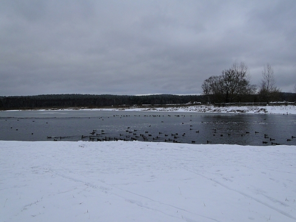
<path id="1" fill-rule="evenodd" d="M 261 88 L 259 95 L 265 102 L 276 99 L 280 90 L 275 86 L 274 71 L 272 66 L 267 63 L 262 71 Z"/>

